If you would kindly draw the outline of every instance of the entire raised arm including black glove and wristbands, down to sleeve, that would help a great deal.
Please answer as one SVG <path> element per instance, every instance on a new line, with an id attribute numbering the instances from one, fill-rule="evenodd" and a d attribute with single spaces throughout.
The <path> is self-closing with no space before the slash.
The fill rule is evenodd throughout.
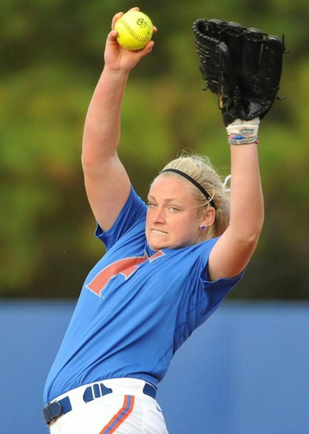
<path id="1" fill-rule="evenodd" d="M 263 225 L 257 131 L 280 89 L 284 38 L 234 21 L 193 23 L 205 89 L 218 95 L 231 144 L 230 224 L 212 248 L 211 280 L 237 276 L 247 265 Z"/>

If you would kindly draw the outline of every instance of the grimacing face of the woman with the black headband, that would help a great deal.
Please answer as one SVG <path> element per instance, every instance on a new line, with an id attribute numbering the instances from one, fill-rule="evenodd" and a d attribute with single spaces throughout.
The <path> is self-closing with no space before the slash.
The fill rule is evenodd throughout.
<path id="1" fill-rule="evenodd" d="M 191 246 L 198 242 L 201 223 L 189 181 L 164 175 L 156 178 L 148 194 L 146 216 L 146 239 L 150 248 Z"/>

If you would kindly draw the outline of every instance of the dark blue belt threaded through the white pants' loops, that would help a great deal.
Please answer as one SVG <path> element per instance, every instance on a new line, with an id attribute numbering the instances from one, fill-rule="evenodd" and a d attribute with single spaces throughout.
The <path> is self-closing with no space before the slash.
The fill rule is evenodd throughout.
<path id="1" fill-rule="evenodd" d="M 92 390 L 93 387 L 93 390 Z M 103 383 L 96 383 L 93 386 L 89 386 L 85 389 L 83 400 L 84 402 L 90 402 L 94 398 L 101 398 L 101 396 L 113 393 L 112 389 L 104 386 Z M 143 388 L 143 393 L 145 395 L 151 396 L 151 398 L 156 399 L 156 389 L 150 384 L 145 384 Z M 65 398 L 59 399 L 59 401 L 54 401 L 52 403 L 46 404 L 43 408 L 43 416 L 47 425 L 55 422 L 62 414 L 66 414 L 72 410 L 72 405 L 70 398 L 66 396 Z"/>

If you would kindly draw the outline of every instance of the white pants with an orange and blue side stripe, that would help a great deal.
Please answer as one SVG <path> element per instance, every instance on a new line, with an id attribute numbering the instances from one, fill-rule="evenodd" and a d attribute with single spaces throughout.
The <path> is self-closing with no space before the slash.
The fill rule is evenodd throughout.
<path id="1" fill-rule="evenodd" d="M 85 389 L 104 383 L 113 393 L 85 403 Z M 60 395 L 68 396 L 72 410 L 50 425 L 51 434 L 168 434 L 157 401 L 143 393 L 145 381 L 113 378 L 83 385 Z"/>

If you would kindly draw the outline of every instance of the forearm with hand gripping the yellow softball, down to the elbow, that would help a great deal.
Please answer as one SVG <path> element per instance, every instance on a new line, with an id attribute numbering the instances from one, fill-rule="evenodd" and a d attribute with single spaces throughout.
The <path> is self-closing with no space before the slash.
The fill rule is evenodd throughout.
<path id="1" fill-rule="evenodd" d="M 130 9 L 139 10 L 138 7 Z M 120 138 L 120 109 L 129 72 L 153 48 L 150 41 L 140 50 L 128 50 L 117 43 L 118 32 L 115 23 L 123 12 L 114 15 L 112 30 L 107 35 L 104 50 L 104 70 L 91 99 L 83 135 L 82 164 L 86 168 L 101 169 L 116 155 Z M 153 32 L 156 32 L 153 27 Z"/>

